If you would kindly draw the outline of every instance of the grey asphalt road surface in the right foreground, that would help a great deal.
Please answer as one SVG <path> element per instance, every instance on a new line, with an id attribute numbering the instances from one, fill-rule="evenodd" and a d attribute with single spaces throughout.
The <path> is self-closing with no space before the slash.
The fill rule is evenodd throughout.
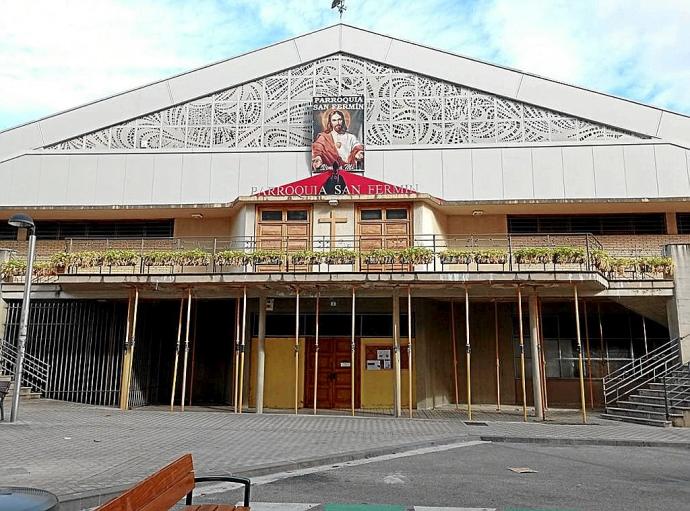
<path id="1" fill-rule="evenodd" d="M 257 482 L 252 502 L 678 510 L 690 509 L 690 451 L 485 443 Z M 237 491 L 204 496 L 239 499 Z"/>

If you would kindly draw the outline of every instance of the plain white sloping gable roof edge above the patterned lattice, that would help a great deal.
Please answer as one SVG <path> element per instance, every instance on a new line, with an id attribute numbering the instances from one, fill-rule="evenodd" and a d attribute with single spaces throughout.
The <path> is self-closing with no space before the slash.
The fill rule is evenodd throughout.
<path id="1" fill-rule="evenodd" d="M 0 132 L 0 160 L 339 52 L 690 147 L 688 116 L 341 24 Z"/>

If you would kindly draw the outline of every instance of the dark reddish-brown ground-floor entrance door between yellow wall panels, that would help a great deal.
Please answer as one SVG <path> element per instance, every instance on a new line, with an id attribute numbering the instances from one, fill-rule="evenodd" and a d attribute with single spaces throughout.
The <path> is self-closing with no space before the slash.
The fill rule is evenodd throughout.
<path id="1" fill-rule="evenodd" d="M 316 395 L 317 408 L 349 409 L 352 406 L 352 368 L 350 339 L 335 337 L 319 339 L 319 372 Z M 314 339 L 307 340 L 304 405 L 314 403 Z M 355 341 L 355 408 L 360 407 L 359 339 Z"/>

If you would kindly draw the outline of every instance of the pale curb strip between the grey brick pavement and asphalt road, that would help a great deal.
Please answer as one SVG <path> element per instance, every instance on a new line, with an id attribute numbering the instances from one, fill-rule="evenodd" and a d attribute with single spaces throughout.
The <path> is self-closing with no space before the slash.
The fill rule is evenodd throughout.
<path id="1" fill-rule="evenodd" d="M 320 465 L 345 463 L 348 461 L 375 458 L 377 456 L 384 456 L 387 454 L 396 454 L 401 452 L 413 451 L 415 449 L 421 449 L 424 447 L 447 445 L 459 441 L 472 440 L 479 440 L 479 437 L 477 435 L 453 436 L 436 440 L 429 440 L 426 442 L 415 442 L 412 444 L 404 444 L 390 447 L 378 447 L 376 449 L 369 449 L 363 451 L 350 451 L 340 454 L 333 454 L 329 456 L 304 458 L 295 461 L 239 467 L 232 471 L 232 475 L 241 477 L 259 477 L 268 474 L 275 474 L 278 472 L 289 472 L 291 470 L 300 470 L 304 468 L 317 467 Z M 101 490 L 96 491 L 60 495 L 60 511 L 82 511 L 84 509 L 92 509 L 94 507 L 106 503 L 113 497 L 120 495 L 122 492 L 124 492 L 131 486 L 131 484 L 124 486 L 112 486 L 109 488 L 103 488 Z"/>

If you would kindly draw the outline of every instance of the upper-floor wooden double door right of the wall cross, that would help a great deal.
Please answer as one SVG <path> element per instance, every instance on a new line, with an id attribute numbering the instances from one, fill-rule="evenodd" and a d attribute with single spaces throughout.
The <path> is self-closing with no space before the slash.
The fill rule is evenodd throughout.
<path id="1" fill-rule="evenodd" d="M 361 251 L 401 249 L 412 245 L 411 209 L 409 204 L 387 206 L 361 205 L 357 208 L 357 229 Z M 365 264 L 367 271 L 402 271 L 409 265 Z"/>

